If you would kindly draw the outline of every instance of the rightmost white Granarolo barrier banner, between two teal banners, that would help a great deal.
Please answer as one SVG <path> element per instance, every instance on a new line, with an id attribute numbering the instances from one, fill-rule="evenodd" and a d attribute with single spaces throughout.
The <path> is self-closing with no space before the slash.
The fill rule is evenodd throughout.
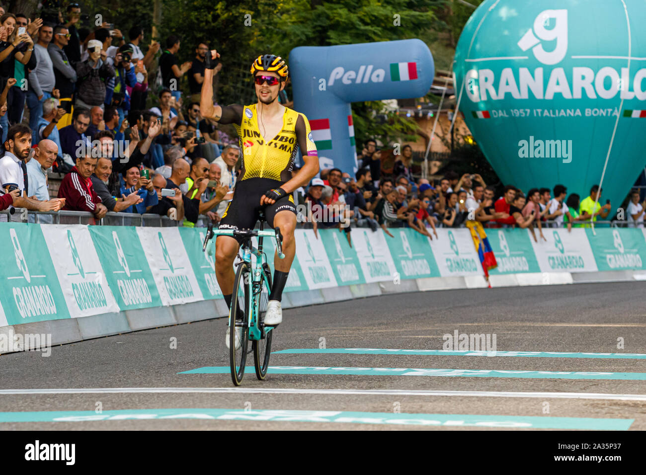
<path id="1" fill-rule="evenodd" d="M 528 231 L 529 232 L 529 231 Z M 583 228 L 543 229 L 547 241 L 530 239 L 541 272 L 596 272 L 588 237 Z"/>

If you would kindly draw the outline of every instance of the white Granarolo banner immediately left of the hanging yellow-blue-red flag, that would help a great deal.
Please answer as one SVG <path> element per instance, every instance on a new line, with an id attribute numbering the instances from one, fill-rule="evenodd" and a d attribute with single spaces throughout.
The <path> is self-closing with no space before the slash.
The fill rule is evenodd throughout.
<path id="1" fill-rule="evenodd" d="M 484 275 L 468 229 L 438 228 L 431 249 L 442 277 Z"/>

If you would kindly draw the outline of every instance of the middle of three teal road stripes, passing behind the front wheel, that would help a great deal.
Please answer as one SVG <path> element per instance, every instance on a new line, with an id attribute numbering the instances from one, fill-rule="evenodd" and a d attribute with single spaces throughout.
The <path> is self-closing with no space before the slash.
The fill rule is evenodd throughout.
<path id="1" fill-rule="evenodd" d="M 178 374 L 229 374 L 229 366 L 204 366 Z M 271 374 L 361 376 L 525 377 L 534 379 L 623 379 L 646 381 L 646 373 L 584 371 L 463 370 L 452 368 L 354 368 L 332 366 L 269 366 Z"/>

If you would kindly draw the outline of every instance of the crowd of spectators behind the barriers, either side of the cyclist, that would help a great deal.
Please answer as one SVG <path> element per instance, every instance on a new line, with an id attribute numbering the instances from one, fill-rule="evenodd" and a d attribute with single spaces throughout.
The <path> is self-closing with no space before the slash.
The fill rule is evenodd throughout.
<path id="1" fill-rule="evenodd" d="M 207 41 L 180 63 L 180 37 L 167 37 L 162 50 L 157 41 L 146 44 L 139 26 L 127 36 L 109 23 L 83 27 L 77 3 L 57 15 L 43 9 L 28 18 L 3 8 L 0 15 L 0 209 L 88 211 L 97 219 L 109 211 L 156 213 L 184 226 L 206 215 L 218 222 L 233 197 L 240 149 L 200 114 Z M 179 87 L 184 77 L 187 97 Z M 286 96 L 281 101 L 291 105 Z M 507 185 L 496 199 L 479 174 L 416 178 L 410 145 L 389 173 L 381 153 L 368 140 L 356 172 L 324 169 L 296 192 L 315 233 L 338 227 L 349 240 L 355 222 L 388 235 L 411 227 L 433 239 L 437 227 L 475 220 L 529 228 L 537 240 L 543 227 L 589 226 L 610 215 L 596 185 L 583 197 L 558 184 L 527 191 Z M 65 175 L 57 196 L 49 195 L 48 171 Z M 643 226 L 645 209 L 631 193 L 629 226 Z"/>

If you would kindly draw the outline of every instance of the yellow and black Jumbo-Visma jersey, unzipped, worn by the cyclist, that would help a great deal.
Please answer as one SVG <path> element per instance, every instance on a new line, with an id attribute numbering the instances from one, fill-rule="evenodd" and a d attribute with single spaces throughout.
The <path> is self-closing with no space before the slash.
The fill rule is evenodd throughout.
<path id="1" fill-rule="evenodd" d="M 291 169 L 299 146 L 304 156 L 317 155 L 309 121 L 304 114 L 286 107 L 282 129 L 268 142 L 265 142 L 258 128 L 256 105 L 245 105 L 241 115 L 240 122 L 234 122 L 242 151 L 239 180 L 269 178 L 287 182 L 291 179 Z"/>

